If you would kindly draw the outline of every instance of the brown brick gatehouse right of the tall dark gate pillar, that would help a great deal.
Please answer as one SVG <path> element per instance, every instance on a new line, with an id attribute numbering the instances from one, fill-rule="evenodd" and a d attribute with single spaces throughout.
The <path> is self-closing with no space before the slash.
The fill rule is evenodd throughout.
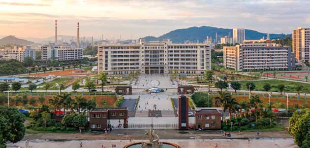
<path id="1" fill-rule="evenodd" d="M 200 109 L 195 111 L 196 129 L 221 129 L 221 113 L 218 109 Z"/>

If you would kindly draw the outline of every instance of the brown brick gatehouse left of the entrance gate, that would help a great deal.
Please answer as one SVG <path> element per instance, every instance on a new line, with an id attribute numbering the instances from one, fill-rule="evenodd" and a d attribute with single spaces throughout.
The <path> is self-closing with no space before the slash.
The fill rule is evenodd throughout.
<path id="1" fill-rule="evenodd" d="M 128 108 L 127 107 L 104 107 L 94 108 L 89 111 L 89 129 L 104 130 L 109 127 L 110 120 L 119 120 L 114 128 L 128 128 Z"/>

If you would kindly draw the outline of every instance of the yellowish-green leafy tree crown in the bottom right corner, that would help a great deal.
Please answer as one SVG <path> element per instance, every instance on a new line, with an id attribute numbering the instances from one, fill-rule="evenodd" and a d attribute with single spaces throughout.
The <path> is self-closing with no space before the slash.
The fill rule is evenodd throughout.
<path id="1" fill-rule="evenodd" d="M 310 145 L 310 110 L 296 110 L 293 116 L 289 119 L 289 133 L 294 137 L 295 143 L 306 148 Z"/>

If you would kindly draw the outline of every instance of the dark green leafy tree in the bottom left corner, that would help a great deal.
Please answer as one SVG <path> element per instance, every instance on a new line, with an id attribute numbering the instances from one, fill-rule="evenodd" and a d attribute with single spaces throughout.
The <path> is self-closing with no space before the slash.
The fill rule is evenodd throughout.
<path id="1" fill-rule="evenodd" d="M 0 106 L 0 147 L 7 141 L 18 142 L 25 135 L 25 116 L 15 107 Z"/>

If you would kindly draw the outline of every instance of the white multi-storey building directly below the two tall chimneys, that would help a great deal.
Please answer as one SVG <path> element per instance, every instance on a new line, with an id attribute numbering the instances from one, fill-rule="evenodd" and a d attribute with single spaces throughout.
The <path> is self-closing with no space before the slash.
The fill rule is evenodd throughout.
<path id="1" fill-rule="evenodd" d="M 41 46 L 41 58 L 57 61 L 70 61 L 83 59 L 83 49 L 77 46 Z"/>

